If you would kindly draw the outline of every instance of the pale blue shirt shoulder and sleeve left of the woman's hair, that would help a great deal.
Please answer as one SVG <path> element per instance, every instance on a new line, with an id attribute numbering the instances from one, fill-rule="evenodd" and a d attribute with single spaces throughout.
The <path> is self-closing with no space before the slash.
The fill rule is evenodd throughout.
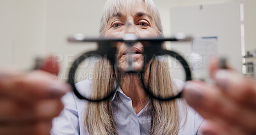
<path id="1" fill-rule="evenodd" d="M 52 120 L 52 135 L 79 134 L 79 119 L 74 96 L 73 92 L 68 92 L 62 97 L 61 100 L 65 107 L 61 114 Z"/>

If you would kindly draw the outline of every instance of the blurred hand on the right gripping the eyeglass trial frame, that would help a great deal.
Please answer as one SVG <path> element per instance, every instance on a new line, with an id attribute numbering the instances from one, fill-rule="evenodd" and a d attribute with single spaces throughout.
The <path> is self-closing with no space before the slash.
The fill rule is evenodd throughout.
<path id="1" fill-rule="evenodd" d="M 234 70 L 210 63 L 216 84 L 202 81 L 186 83 L 183 97 L 205 118 L 203 134 L 256 134 L 256 81 Z"/>

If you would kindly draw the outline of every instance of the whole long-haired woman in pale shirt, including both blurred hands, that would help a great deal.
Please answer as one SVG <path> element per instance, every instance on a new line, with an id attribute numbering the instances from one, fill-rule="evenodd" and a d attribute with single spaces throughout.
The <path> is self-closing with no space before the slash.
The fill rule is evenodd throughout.
<path id="1" fill-rule="evenodd" d="M 100 35 L 122 37 L 125 33 L 163 35 L 152 1 L 106 2 Z M 122 42 L 116 47 L 118 66 L 125 72 L 127 47 Z M 132 49 L 138 51 L 132 65 L 140 70 L 143 45 L 137 43 Z M 161 96 L 177 93 L 184 83 L 166 74 L 166 63 L 151 62 L 151 70 L 145 71 L 148 88 Z M 121 76 L 120 88 L 111 99 L 100 103 L 79 100 L 67 93 L 71 90 L 68 84 L 52 77 L 59 70 L 55 63 L 49 58 L 41 70 L 26 73 L 0 68 L 0 134 L 197 134 L 198 129 L 203 134 L 256 134 L 255 81 L 230 68 L 220 70 L 217 58 L 209 65 L 216 85 L 192 81 L 182 93 L 189 106 L 205 118 L 204 123 L 182 99 L 159 102 L 147 97 L 140 79 L 131 74 Z M 99 63 L 92 80 L 77 83 L 79 90 L 91 91 L 92 97 L 107 93 L 115 82 L 108 65 L 106 60 Z"/>

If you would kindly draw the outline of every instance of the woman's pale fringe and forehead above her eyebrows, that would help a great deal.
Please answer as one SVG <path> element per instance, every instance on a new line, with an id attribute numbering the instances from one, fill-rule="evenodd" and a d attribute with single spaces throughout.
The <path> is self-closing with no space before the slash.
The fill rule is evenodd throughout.
<path id="1" fill-rule="evenodd" d="M 147 15 L 153 26 L 156 26 L 162 34 L 163 28 L 159 12 L 152 0 L 108 0 L 104 5 L 102 21 L 100 22 L 100 35 L 103 35 L 106 26 L 115 20 L 118 15 L 120 17 L 120 15 L 126 15 L 127 13 L 137 17 Z"/>

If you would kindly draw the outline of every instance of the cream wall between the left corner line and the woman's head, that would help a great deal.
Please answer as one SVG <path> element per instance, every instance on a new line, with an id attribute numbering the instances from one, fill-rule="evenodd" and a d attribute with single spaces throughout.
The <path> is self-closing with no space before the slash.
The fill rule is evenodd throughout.
<path id="1" fill-rule="evenodd" d="M 103 5 L 104 2 L 100 0 L 47 1 L 45 50 L 47 54 L 58 56 L 61 63 L 60 77 L 67 78 L 72 61 L 81 52 L 96 47 L 94 44 L 70 44 L 67 36 L 75 33 L 99 36 Z"/>

